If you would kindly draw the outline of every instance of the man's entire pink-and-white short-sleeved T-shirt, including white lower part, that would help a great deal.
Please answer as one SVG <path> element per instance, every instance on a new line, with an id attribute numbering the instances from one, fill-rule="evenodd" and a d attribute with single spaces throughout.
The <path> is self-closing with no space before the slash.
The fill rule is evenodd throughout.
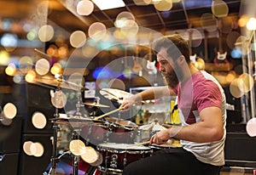
<path id="1" fill-rule="evenodd" d="M 212 143 L 181 140 L 181 144 L 183 149 L 193 153 L 199 161 L 214 166 L 224 165 L 226 103 L 224 90 L 218 81 L 206 71 L 198 71 L 184 84 L 178 84 L 174 91 L 177 93 L 177 106 L 182 126 L 200 122 L 200 111 L 206 107 L 216 106 L 221 109 L 224 122 L 224 137 L 221 140 Z M 214 114 L 209 117 L 214 117 Z"/>

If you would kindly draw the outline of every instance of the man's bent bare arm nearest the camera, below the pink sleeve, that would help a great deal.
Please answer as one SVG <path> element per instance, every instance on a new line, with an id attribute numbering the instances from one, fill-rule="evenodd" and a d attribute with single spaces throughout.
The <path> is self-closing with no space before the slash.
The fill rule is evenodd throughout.
<path id="1" fill-rule="evenodd" d="M 224 136 L 221 109 L 207 107 L 200 112 L 201 121 L 184 127 L 171 127 L 155 134 L 150 143 L 163 144 L 169 138 L 183 139 L 196 143 L 218 141 Z"/>

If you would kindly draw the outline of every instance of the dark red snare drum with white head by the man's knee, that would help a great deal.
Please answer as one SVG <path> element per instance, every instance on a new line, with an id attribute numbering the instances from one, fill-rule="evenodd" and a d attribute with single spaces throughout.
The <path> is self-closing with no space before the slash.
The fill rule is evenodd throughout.
<path id="1" fill-rule="evenodd" d="M 136 144 L 99 144 L 97 150 L 102 153 L 102 165 L 98 166 L 101 172 L 121 174 L 126 165 L 138 161 L 152 154 L 151 148 Z"/>

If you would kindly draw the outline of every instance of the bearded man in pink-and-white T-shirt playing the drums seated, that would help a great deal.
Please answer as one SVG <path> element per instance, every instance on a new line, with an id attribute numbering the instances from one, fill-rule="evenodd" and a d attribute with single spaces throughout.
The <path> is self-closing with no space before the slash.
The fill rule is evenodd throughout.
<path id="1" fill-rule="evenodd" d="M 224 165 L 225 96 L 218 82 L 190 63 L 189 44 L 175 34 L 155 42 L 154 50 L 167 86 L 137 93 L 120 107 L 146 99 L 177 95 L 182 126 L 155 133 L 150 144 L 180 139 L 182 148 L 160 150 L 125 167 L 124 175 L 215 175 Z"/>

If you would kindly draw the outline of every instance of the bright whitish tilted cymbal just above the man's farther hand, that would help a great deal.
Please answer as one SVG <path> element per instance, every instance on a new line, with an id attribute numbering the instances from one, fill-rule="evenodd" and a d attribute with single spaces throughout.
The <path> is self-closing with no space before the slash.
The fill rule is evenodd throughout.
<path id="1" fill-rule="evenodd" d="M 100 93 L 107 99 L 114 100 L 122 104 L 125 99 L 129 99 L 133 94 L 115 88 L 102 88 Z"/>

